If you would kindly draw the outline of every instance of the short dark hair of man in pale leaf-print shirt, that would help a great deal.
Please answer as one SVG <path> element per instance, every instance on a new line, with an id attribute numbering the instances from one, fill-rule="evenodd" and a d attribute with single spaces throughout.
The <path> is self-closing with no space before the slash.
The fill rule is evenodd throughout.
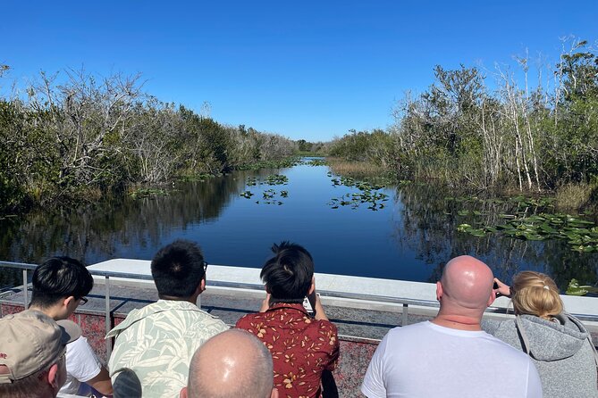
<path id="1" fill-rule="evenodd" d="M 152 260 L 152 277 L 160 297 L 190 297 L 205 275 L 204 255 L 188 240 L 165 245 Z"/>

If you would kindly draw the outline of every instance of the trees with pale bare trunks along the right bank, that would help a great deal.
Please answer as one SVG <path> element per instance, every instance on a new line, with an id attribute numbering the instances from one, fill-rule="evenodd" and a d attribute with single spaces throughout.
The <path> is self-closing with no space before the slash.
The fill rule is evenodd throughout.
<path id="1" fill-rule="evenodd" d="M 598 54 L 585 41 L 565 45 L 533 88 L 527 57 L 516 59 L 521 85 L 497 67 L 492 90 L 478 68 L 437 66 L 432 86 L 394 109 L 391 128 L 351 131 L 331 154 L 451 187 L 598 185 Z"/>

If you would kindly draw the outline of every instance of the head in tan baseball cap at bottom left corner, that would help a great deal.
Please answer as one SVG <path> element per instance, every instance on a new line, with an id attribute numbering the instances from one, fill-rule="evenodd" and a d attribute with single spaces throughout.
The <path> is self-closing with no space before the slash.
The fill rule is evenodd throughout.
<path id="1" fill-rule="evenodd" d="M 55 397 L 66 380 L 66 344 L 80 336 L 76 333 L 39 311 L 0 319 L 0 396 Z"/>

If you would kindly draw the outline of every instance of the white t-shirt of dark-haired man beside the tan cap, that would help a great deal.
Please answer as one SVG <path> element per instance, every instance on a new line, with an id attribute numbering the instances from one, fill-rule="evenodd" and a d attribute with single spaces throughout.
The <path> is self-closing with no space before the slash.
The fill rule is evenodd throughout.
<path id="1" fill-rule="evenodd" d="M 62 394 L 87 395 L 91 388 L 84 382 L 96 377 L 102 364 L 88 344 L 88 339 L 79 337 L 66 344 L 66 383 L 60 389 Z M 83 382 L 83 383 L 82 383 Z"/>

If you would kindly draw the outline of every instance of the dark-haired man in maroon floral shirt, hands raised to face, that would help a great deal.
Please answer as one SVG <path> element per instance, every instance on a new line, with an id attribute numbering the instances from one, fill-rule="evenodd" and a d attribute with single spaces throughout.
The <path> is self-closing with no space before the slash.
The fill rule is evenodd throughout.
<path id="1" fill-rule="evenodd" d="M 236 328 L 256 335 L 272 353 L 274 386 L 281 397 L 322 396 L 322 373 L 332 371 L 339 357 L 336 327 L 314 294 L 314 261 L 300 245 L 282 242 L 272 248 L 260 278 L 266 297 L 258 313 L 239 319 Z M 316 297 L 312 318 L 303 307 Z"/>

